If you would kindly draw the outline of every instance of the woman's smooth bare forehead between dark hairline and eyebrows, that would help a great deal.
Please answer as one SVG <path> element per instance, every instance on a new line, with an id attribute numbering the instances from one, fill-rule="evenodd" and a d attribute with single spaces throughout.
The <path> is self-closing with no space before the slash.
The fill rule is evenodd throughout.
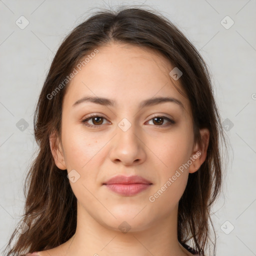
<path id="1" fill-rule="evenodd" d="M 71 79 L 64 96 L 69 105 L 88 95 L 114 98 L 117 107 L 169 96 L 181 101 L 185 112 L 190 111 L 188 99 L 175 88 L 184 93 L 180 83 L 169 76 L 173 66 L 158 51 L 119 43 L 97 50 Z"/>

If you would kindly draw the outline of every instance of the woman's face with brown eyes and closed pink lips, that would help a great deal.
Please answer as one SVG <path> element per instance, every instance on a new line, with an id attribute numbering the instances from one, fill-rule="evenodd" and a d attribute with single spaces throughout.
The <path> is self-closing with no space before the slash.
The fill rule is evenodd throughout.
<path id="1" fill-rule="evenodd" d="M 189 101 L 169 75 L 174 66 L 127 44 L 98 50 L 68 85 L 59 148 L 52 153 L 69 173 L 80 211 L 114 230 L 122 221 L 143 230 L 176 212 L 188 173 L 199 168 L 205 150 L 194 143 Z M 117 175 L 148 182 L 107 182 Z"/>

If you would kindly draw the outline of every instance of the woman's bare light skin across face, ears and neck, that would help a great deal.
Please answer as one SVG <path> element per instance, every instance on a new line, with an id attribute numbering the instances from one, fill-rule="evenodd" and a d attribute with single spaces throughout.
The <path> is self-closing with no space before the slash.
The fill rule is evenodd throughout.
<path id="1" fill-rule="evenodd" d="M 182 90 L 179 81 L 168 74 L 174 66 L 158 52 L 120 43 L 98 49 L 67 88 L 61 137 L 54 132 L 50 136 L 55 164 L 80 175 L 74 183 L 70 181 L 77 198 L 76 232 L 67 242 L 38 254 L 192 255 L 177 240 L 178 201 L 188 173 L 205 160 L 209 131 L 200 130 L 203 145 L 199 148 L 193 140 L 189 101 L 173 86 Z M 106 97 L 115 104 L 82 102 L 72 106 L 85 95 Z M 174 97 L 184 108 L 174 102 L 139 108 L 142 100 L 155 96 Z M 90 119 L 87 123 L 96 128 L 88 127 L 82 120 L 89 114 L 105 119 L 102 124 Z M 175 123 L 153 122 L 153 117 L 162 115 Z M 118 127 L 123 118 L 131 124 L 126 131 Z M 200 156 L 150 202 L 149 196 L 198 150 Z M 140 175 L 152 185 L 136 195 L 122 196 L 102 185 L 116 174 Z M 131 227 L 126 233 L 118 228 L 123 221 Z"/>

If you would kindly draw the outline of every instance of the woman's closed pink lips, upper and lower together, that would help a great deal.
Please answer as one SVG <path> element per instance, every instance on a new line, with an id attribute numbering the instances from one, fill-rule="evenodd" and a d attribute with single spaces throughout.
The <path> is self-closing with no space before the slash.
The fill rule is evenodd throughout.
<path id="1" fill-rule="evenodd" d="M 117 175 L 103 183 L 111 191 L 123 196 L 135 195 L 149 188 L 151 184 L 149 180 L 137 175 Z"/>

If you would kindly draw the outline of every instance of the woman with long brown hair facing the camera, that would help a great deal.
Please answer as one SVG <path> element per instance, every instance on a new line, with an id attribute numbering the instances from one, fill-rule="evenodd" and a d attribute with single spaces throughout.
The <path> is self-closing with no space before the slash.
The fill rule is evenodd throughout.
<path id="1" fill-rule="evenodd" d="M 206 64 L 162 15 L 106 10 L 74 28 L 51 63 L 34 134 L 7 255 L 215 255 L 220 117 Z"/>

